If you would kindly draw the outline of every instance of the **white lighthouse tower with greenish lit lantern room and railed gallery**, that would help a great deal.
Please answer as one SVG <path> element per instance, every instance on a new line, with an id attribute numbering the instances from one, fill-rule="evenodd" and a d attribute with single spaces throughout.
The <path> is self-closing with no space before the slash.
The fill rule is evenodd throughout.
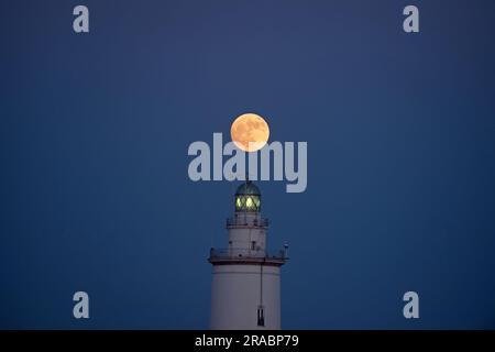
<path id="1" fill-rule="evenodd" d="M 285 250 L 268 252 L 268 220 L 261 216 L 260 189 L 239 186 L 227 219 L 229 243 L 211 249 L 211 329 L 280 329 L 280 266 Z"/>

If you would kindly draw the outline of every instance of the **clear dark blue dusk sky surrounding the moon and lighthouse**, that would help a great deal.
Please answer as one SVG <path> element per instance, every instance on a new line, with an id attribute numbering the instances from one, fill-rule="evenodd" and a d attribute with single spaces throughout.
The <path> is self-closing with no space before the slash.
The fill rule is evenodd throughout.
<path id="1" fill-rule="evenodd" d="M 190 182 L 187 147 L 248 111 L 308 142 L 306 193 L 258 184 L 271 248 L 290 243 L 283 328 L 495 328 L 494 1 L 2 1 L 0 16 L 0 328 L 208 328 L 206 258 L 237 185 Z"/>

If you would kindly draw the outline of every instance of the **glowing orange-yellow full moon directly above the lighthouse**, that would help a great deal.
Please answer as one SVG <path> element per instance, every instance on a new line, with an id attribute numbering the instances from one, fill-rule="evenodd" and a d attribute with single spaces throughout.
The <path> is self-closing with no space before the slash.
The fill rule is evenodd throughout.
<path id="1" fill-rule="evenodd" d="M 256 152 L 268 141 L 270 128 L 262 117 L 244 113 L 232 122 L 230 135 L 241 151 Z"/>

